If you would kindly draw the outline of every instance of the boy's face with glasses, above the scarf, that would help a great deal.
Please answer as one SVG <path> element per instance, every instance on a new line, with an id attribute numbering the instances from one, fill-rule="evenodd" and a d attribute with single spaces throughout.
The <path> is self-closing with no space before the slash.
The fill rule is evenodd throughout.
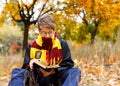
<path id="1" fill-rule="evenodd" d="M 49 28 L 42 28 L 39 30 L 41 37 L 52 38 L 54 36 L 54 30 Z"/>

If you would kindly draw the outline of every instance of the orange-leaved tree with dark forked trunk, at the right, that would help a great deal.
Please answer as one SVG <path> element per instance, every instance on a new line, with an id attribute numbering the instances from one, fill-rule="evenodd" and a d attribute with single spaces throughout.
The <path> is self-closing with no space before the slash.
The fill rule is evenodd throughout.
<path id="1" fill-rule="evenodd" d="M 104 26 L 109 28 L 107 32 L 112 32 L 120 24 L 118 23 L 120 0 L 65 0 L 63 4 L 63 10 L 67 16 L 80 17 L 82 23 L 87 26 L 86 31 L 90 34 L 91 44 L 94 43 L 97 34 L 101 34 L 101 29 L 105 29 Z M 115 20 L 112 25 L 110 25 L 111 19 Z"/>

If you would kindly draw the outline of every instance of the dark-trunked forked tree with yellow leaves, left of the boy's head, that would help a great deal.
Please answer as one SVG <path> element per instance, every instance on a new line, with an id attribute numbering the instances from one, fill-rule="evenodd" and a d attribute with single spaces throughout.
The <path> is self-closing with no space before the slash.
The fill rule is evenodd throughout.
<path id="1" fill-rule="evenodd" d="M 41 4 L 40 4 L 41 2 Z M 49 11 L 52 11 L 52 8 L 47 7 L 49 0 L 33 0 L 31 3 L 23 2 L 22 0 L 6 0 L 4 10 L 2 11 L 1 22 L 5 21 L 7 18 L 10 18 L 12 22 L 23 23 L 24 38 L 23 38 L 23 51 L 27 47 L 28 43 L 28 31 L 29 27 L 32 24 L 36 24 L 38 16 L 44 15 Z M 37 10 L 35 10 L 36 5 L 40 5 Z M 49 3 L 48 3 L 49 4 Z M 52 6 L 52 5 L 51 5 Z M 39 15 L 35 15 L 35 11 L 39 12 Z M 37 16 L 37 18 L 35 18 Z"/>

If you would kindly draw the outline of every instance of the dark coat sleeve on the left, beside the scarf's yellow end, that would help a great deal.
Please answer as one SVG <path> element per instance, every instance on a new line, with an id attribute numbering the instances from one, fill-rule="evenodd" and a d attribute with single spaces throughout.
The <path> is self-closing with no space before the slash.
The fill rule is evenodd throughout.
<path id="1" fill-rule="evenodd" d="M 29 62 L 30 62 L 30 45 L 27 46 L 22 68 L 29 68 Z"/>

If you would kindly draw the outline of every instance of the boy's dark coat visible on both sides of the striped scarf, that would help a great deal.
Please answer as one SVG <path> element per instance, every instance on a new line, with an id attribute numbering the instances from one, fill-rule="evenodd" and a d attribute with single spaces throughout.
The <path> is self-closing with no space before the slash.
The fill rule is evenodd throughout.
<path id="1" fill-rule="evenodd" d="M 68 47 L 67 42 L 65 40 L 63 40 L 63 39 L 60 39 L 60 43 L 61 43 L 61 47 L 62 47 L 63 60 L 60 63 L 60 67 L 56 68 L 56 70 L 58 72 L 60 72 L 62 70 L 69 69 L 69 68 L 72 68 L 74 66 L 74 62 L 71 59 L 71 53 L 70 53 L 70 49 Z M 26 49 L 24 63 L 23 63 L 22 68 L 29 67 L 29 62 L 30 62 L 30 48 L 31 48 L 31 45 L 29 44 L 28 47 L 27 47 L 27 49 Z"/>

